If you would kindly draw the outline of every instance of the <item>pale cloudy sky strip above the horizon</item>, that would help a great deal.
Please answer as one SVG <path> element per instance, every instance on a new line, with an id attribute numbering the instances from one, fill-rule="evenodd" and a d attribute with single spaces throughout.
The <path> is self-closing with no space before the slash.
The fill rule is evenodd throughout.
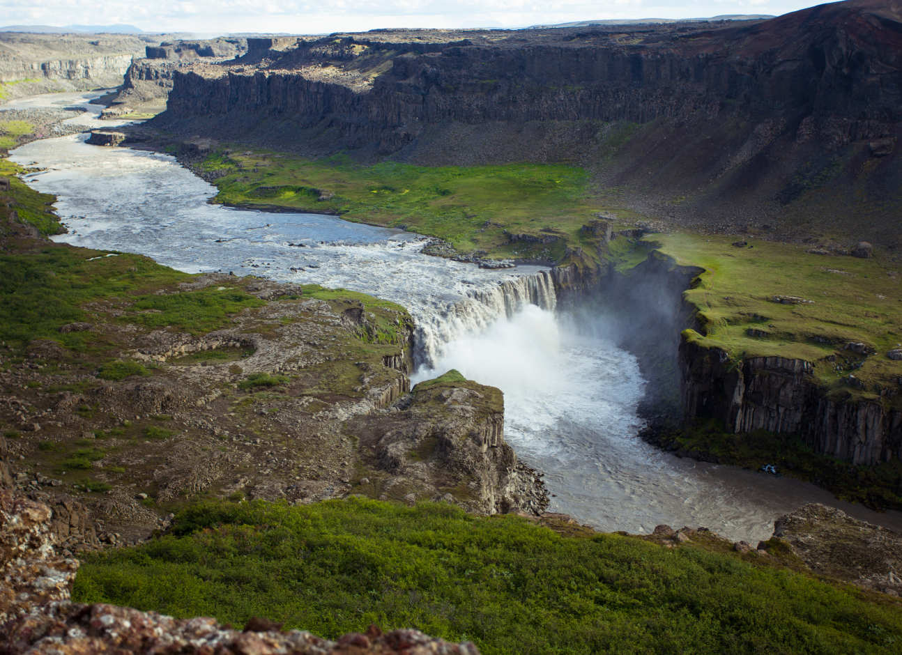
<path id="1" fill-rule="evenodd" d="M 787 14 L 811 0 L 0 0 L 0 25 L 127 23 L 145 32 L 364 32 L 525 27 L 609 18 Z"/>

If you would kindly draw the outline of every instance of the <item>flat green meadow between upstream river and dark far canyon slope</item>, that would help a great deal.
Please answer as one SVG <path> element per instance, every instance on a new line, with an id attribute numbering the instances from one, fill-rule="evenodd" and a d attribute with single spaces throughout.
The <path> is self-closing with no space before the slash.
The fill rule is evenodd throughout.
<path id="1" fill-rule="evenodd" d="M 587 172 L 564 164 L 362 165 L 341 156 L 309 160 L 276 152 L 217 152 L 200 167 L 224 174 L 214 182 L 217 202 L 336 213 L 494 256 L 560 260 L 564 241 L 575 243 L 579 228 L 600 208 Z M 543 235 L 543 228 L 562 240 L 509 244 L 503 234 L 507 229 Z"/>

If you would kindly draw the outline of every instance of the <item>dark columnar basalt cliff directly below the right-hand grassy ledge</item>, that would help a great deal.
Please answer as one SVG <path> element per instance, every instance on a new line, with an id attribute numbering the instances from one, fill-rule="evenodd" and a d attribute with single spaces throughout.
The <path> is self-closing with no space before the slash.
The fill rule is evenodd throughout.
<path id="1" fill-rule="evenodd" d="M 732 432 L 798 434 L 815 452 L 853 464 L 902 457 L 902 412 L 851 395 L 831 397 L 812 364 L 784 357 L 732 361 L 720 348 L 684 338 L 679 349 L 687 418 L 723 420 Z"/>

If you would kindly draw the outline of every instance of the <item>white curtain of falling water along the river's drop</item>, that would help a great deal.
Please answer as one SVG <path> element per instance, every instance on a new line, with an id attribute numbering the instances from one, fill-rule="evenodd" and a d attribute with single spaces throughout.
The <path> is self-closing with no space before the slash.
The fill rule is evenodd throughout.
<path id="1" fill-rule="evenodd" d="M 557 305 L 551 272 L 494 282 L 487 287 L 467 292 L 467 298 L 444 312 L 419 316 L 417 320 L 417 368 L 433 368 L 446 354 L 446 346 L 462 337 L 475 335 L 502 318 L 513 318 L 527 305 L 553 312 Z"/>

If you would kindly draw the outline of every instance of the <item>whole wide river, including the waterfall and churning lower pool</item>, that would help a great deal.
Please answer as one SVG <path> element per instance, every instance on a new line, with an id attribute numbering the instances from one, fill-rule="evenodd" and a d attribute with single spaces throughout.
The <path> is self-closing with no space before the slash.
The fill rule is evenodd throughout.
<path id="1" fill-rule="evenodd" d="M 35 97 L 0 109 L 81 105 L 89 112 L 74 123 L 115 125 L 96 121 L 91 96 Z M 216 189 L 174 158 L 85 138 L 43 139 L 11 156 L 40 168 L 24 179 L 59 198 L 69 234 L 58 241 L 146 254 L 182 271 L 317 282 L 405 305 L 419 325 L 414 382 L 454 367 L 500 387 L 505 436 L 545 472 L 553 511 L 601 530 L 704 526 L 755 543 L 770 536 L 780 514 L 817 502 L 902 531 L 899 512 L 870 512 L 812 484 L 679 459 L 645 444 L 637 437 L 644 381 L 635 357 L 589 336 L 600 330 L 558 317 L 539 267 L 483 271 L 421 254 L 423 240 L 410 233 L 210 205 Z M 505 311 L 518 294 L 537 304 Z"/>

